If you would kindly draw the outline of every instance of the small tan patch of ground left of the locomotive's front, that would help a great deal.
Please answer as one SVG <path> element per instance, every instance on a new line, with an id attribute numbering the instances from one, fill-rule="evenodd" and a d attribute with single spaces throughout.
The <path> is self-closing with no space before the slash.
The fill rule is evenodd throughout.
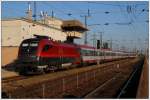
<path id="1" fill-rule="evenodd" d="M 14 71 L 8 71 L 5 69 L 1 69 L 1 78 L 2 79 L 14 77 L 14 76 L 19 76 L 19 74 Z"/>

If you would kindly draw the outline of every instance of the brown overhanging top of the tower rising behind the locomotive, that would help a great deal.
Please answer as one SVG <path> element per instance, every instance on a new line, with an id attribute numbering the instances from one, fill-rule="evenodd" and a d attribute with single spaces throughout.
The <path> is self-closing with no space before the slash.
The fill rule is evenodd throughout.
<path id="1" fill-rule="evenodd" d="M 64 31 L 88 31 L 88 29 L 78 20 L 63 21 L 62 29 Z"/>

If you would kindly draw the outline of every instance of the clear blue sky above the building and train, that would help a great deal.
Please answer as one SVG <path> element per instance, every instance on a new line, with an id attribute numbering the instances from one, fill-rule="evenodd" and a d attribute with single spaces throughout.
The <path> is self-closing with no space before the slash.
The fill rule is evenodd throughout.
<path id="1" fill-rule="evenodd" d="M 93 34 L 99 39 L 99 33 L 103 32 L 103 41 L 112 39 L 114 48 L 124 46 L 128 50 L 145 48 L 145 40 L 148 40 L 148 2 L 147 1 L 99 1 L 99 2 L 37 2 L 37 14 L 40 11 L 47 11 L 48 15 L 54 12 L 55 17 L 69 20 L 77 19 L 84 23 L 83 15 L 87 15 L 88 9 L 90 17 L 87 19 L 88 25 L 88 43 L 92 45 Z M 33 1 L 31 2 L 33 9 Z M 2 2 L 1 17 L 19 18 L 25 17 L 28 2 L 26 1 L 9 1 Z M 69 16 L 69 14 L 71 14 Z M 108 25 L 105 25 L 108 23 Z M 84 36 L 75 42 L 83 44 Z M 148 41 L 147 41 L 148 42 Z M 148 45 L 148 44 L 147 44 Z"/>

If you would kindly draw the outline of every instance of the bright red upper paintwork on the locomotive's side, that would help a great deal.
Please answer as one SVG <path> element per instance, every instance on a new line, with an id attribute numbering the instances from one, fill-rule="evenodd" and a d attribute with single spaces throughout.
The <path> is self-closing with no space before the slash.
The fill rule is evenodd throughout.
<path id="1" fill-rule="evenodd" d="M 45 45 L 50 45 L 51 49 L 43 52 L 42 49 Z M 75 45 L 42 39 L 39 43 L 37 56 L 80 58 L 80 52 L 77 49 Z"/>

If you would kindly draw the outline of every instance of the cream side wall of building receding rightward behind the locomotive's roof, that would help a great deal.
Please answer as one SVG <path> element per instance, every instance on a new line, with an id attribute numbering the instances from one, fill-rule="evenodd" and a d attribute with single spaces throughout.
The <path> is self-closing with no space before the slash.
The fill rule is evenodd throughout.
<path id="1" fill-rule="evenodd" d="M 66 34 L 59 29 L 44 27 L 43 25 L 21 21 L 21 38 L 33 37 L 33 34 L 46 35 L 54 40 L 66 40 Z"/>

